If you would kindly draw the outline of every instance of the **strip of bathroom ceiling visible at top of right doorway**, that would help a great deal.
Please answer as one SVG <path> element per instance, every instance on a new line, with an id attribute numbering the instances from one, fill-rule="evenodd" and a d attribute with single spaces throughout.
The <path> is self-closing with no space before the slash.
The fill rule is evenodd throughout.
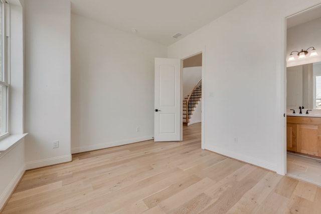
<path id="1" fill-rule="evenodd" d="M 286 27 L 290 28 L 319 17 L 321 17 L 321 4 L 288 17 Z"/>

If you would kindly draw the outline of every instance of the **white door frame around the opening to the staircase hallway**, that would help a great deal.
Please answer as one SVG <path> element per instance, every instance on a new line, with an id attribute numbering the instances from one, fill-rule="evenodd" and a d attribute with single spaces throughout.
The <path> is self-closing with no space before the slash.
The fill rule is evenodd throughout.
<path id="1" fill-rule="evenodd" d="M 201 148 L 205 148 L 205 47 L 199 51 L 194 51 L 192 54 L 189 54 L 183 58 L 181 58 L 181 140 L 183 140 L 183 60 L 189 57 L 192 57 L 197 54 L 202 54 L 202 125 L 201 125 Z"/>

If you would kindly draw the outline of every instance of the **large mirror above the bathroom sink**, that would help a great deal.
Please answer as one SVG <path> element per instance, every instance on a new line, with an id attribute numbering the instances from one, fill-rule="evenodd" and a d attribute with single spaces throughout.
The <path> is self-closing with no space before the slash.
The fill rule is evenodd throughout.
<path id="1" fill-rule="evenodd" d="M 321 62 L 286 68 L 286 106 L 321 109 Z"/>

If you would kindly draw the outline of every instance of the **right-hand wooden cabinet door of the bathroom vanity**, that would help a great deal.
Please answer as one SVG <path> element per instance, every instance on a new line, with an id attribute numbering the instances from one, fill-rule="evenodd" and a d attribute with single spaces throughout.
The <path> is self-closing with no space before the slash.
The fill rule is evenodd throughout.
<path id="1" fill-rule="evenodd" d="M 321 125 L 296 125 L 296 151 L 321 156 Z"/>

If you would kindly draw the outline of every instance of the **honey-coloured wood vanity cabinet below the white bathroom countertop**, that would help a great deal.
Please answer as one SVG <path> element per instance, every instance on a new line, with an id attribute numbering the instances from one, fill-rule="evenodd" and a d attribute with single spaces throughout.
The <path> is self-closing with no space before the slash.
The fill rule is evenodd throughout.
<path id="1" fill-rule="evenodd" d="M 287 116 L 286 147 L 321 156 L 321 117 Z"/>

